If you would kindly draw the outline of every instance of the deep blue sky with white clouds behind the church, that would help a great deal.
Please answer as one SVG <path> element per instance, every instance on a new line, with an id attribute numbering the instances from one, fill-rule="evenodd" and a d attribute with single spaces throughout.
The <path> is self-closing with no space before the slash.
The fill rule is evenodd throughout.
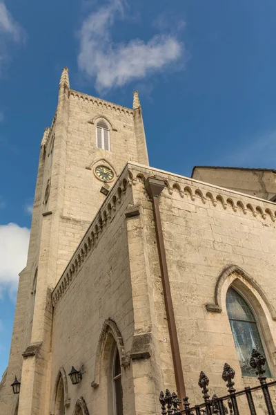
<path id="1" fill-rule="evenodd" d="M 63 66 L 126 107 L 139 90 L 154 167 L 275 168 L 275 20 L 275 0 L 0 0 L 0 376 Z"/>

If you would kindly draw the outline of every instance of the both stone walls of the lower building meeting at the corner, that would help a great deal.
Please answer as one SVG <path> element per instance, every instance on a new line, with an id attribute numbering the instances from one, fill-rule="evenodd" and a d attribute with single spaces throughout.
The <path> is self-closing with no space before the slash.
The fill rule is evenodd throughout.
<path id="1" fill-rule="evenodd" d="M 106 356 L 103 348 L 99 354 L 98 344 L 108 319 L 117 324 L 124 343 L 124 413 L 157 414 L 159 391 L 175 390 L 152 203 L 144 188 L 147 176 L 166 182 L 159 205 L 190 402 L 201 402 L 201 370 L 210 378 L 210 392 L 225 394 L 225 362 L 237 373 L 237 389 L 257 385 L 254 378 L 242 378 L 239 368 L 225 306 L 230 284 L 255 311 L 275 374 L 273 203 L 128 163 L 53 293 L 52 408 L 59 367 L 66 373 L 72 365 L 85 371 L 78 386 L 68 383 L 68 414 L 80 396 L 90 414 L 107 414 L 112 405 L 107 376 L 95 374 L 95 362 L 97 366 L 101 356 L 103 364 Z M 258 414 L 264 413 L 262 399 L 257 405 Z"/>

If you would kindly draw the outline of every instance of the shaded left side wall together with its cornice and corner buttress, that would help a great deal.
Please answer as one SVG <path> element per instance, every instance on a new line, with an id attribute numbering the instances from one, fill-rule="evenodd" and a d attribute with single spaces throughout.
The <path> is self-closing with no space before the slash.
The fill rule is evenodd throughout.
<path id="1" fill-rule="evenodd" d="M 103 331 L 107 321 L 119 331 L 115 338 L 121 356 L 124 414 L 158 411 L 163 383 L 160 339 L 153 321 L 155 293 L 143 206 L 133 203 L 134 187 L 128 174 L 127 165 L 52 293 L 51 414 L 57 413 L 59 368 L 68 374 L 72 365 L 84 374 L 78 386 L 66 381 L 65 402 L 70 401 L 66 413 L 73 413 L 81 396 L 90 414 L 112 412 L 110 351 L 106 348 L 110 340 Z M 143 188 L 137 190 L 135 194 L 144 197 Z M 159 312 L 164 318 L 162 306 Z M 169 367 L 168 344 L 162 339 L 161 345 Z"/>

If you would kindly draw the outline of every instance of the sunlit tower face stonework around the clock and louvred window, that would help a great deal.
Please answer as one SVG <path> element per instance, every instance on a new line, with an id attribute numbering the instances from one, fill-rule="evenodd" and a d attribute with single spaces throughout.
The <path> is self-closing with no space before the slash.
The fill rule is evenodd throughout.
<path id="1" fill-rule="evenodd" d="M 108 183 L 111 187 L 128 160 L 138 161 L 132 110 L 70 90 L 68 111 L 57 275 L 63 272 L 105 199 L 99 192 L 103 182 L 95 175 L 95 167 L 103 164 L 113 169 L 114 180 Z M 110 151 L 97 148 L 99 118 L 110 127 Z"/>

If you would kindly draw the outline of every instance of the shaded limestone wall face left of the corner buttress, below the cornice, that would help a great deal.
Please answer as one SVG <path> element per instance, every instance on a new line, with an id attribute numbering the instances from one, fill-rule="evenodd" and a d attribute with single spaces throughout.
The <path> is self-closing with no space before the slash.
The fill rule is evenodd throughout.
<path id="1" fill-rule="evenodd" d="M 134 323 L 124 216 L 124 210 L 131 201 L 132 194 L 128 190 L 128 194 L 124 194 L 119 203 L 111 202 L 112 221 L 111 218 L 103 217 L 102 228 L 97 228 L 98 233 L 90 228 L 89 234 L 86 234 L 90 241 L 86 244 L 86 252 L 81 251 L 83 254 L 79 258 L 75 253 L 77 261 L 73 259 L 70 263 L 73 264 L 75 272 L 72 274 L 69 266 L 63 274 L 66 277 L 68 273 L 68 278 L 69 275 L 71 277 L 68 279 L 68 286 L 62 277 L 53 293 L 55 308 L 52 329 L 51 413 L 56 413 L 55 384 L 59 368 L 63 367 L 68 374 L 72 365 L 77 369 L 82 368 L 84 374 L 81 383 L 76 386 L 68 378 L 70 406 L 66 413 L 73 414 L 75 404 L 81 396 L 86 401 L 90 414 L 108 413 L 108 397 L 104 392 L 106 374 L 97 371 L 96 355 L 106 320 L 112 320 L 121 333 L 124 342 L 124 353 L 121 356 L 125 356 L 125 360 L 132 345 Z M 122 371 L 124 399 L 128 402 L 129 413 L 133 413 L 132 378 L 127 364 Z M 94 389 L 91 382 L 95 383 Z"/>

